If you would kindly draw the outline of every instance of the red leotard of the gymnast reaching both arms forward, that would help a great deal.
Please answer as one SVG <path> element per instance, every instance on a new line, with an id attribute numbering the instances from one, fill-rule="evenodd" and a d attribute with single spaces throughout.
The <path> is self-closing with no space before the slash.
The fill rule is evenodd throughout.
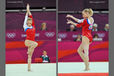
<path id="1" fill-rule="evenodd" d="M 80 24 L 76 25 L 77 27 L 82 27 L 82 36 L 86 36 L 90 42 L 92 42 L 93 37 L 91 34 L 92 24 L 89 24 L 88 19 L 84 19 L 84 21 Z"/>

